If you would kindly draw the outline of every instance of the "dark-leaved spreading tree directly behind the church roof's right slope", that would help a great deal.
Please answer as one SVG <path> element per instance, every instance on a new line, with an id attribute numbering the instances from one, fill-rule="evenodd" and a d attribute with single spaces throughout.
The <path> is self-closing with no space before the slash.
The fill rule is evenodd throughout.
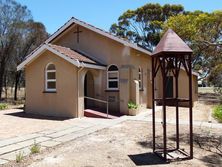
<path id="1" fill-rule="evenodd" d="M 184 13 L 181 5 L 161 6 L 148 3 L 136 10 L 127 10 L 114 23 L 110 32 L 153 50 L 160 40 L 162 24 L 170 17 Z"/>

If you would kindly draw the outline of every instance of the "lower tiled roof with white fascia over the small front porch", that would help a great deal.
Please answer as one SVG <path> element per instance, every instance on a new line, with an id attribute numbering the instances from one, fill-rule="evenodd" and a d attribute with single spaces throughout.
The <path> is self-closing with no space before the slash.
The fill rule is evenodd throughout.
<path id="1" fill-rule="evenodd" d="M 30 64 L 37 57 L 41 55 L 44 51 L 50 51 L 55 55 L 63 58 L 64 60 L 70 62 L 71 64 L 77 67 L 87 67 L 93 69 L 102 69 L 105 70 L 105 65 L 96 62 L 85 55 L 78 53 L 76 51 L 71 50 L 70 48 L 52 45 L 52 44 L 43 44 L 37 50 L 32 52 L 21 64 L 17 66 L 17 70 L 23 69 L 26 65 Z"/>

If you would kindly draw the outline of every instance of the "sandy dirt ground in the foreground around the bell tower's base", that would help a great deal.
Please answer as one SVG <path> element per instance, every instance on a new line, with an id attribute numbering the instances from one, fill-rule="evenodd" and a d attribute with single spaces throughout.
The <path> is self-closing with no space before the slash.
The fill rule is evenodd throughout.
<path id="1" fill-rule="evenodd" d="M 157 128 L 157 142 L 161 125 Z M 170 130 L 168 142 L 174 143 L 174 126 Z M 188 149 L 188 136 L 182 127 L 181 148 Z M 57 148 L 31 156 L 21 164 L 8 166 L 29 167 L 134 167 L 134 166 L 221 166 L 221 129 L 209 134 L 205 129 L 194 129 L 194 159 L 165 163 L 152 153 L 151 124 L 139 121 L 126 121 L 111 128 L 98 131 L 60 145 Z"/>

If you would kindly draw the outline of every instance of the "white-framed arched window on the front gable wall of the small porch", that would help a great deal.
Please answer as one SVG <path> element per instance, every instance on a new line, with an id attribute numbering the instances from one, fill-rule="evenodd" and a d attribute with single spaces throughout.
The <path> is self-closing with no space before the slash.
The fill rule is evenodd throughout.
<path id="1" fill-rule="evenodd" d="M 56 91 L 56 68 L 52 63 L 49 63 L 45 69 L 45 90 Z"/>

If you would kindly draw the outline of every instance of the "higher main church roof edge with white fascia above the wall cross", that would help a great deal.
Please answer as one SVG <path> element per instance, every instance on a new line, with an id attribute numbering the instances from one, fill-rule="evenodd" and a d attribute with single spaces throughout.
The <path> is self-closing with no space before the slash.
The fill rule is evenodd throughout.
<path id="1" fill-rule="evenodd" d="M 123 45 L 125 46 L 129 46 L 131 48 L 134 48 L 138 51 L 141 51 L 145 54 L 148 54 L 148 55 L 151 55 L 151 52 L 148 51 L 147 49 L 144 49 L 140 46 L 138 46 L 137 44 L 134 44 L 134 43 L 131 43 L 130 41 L 128 41 L 127 39 L 124 39 L 124 38 L 121 38 L 121 37 L 118 37 L 112 33 L 109 33 L 107 31 L 104 31 L 100 28 L 97 28 L 91 24 L 88 24 L 84 21 L 81 21 L 81 20 L 78 20 L 74 17 L 72 17 L 68 22 L 66 22 L 62 27 L 60 27 L 54 34 L 52 34 L 47 40 L 46 40 L 46 43 L 50 43 L 53 39 L 55 39 L 56 37 L 58 37 L 61 33 L 63 33 L 66 29 L 68 29 L 70 26 L 72 26 L 73 24 L 77 24 L 77 25 L 80 25 L 82 27 L 85 27 L 89 30 L 92 30 L 98 34 L 101 34 L 107 38 L 110 38 L 112 40 L 115 40 L 119 43 L 122 43 Z"/>

